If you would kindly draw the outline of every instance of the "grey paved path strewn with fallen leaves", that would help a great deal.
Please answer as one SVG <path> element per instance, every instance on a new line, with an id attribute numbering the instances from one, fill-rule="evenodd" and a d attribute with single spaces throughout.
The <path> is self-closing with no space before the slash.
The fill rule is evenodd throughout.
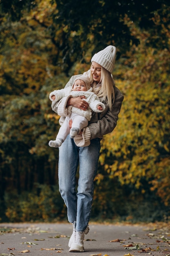
<path id="1" fill-rule="evenodd" d="M 89 227 L 85 252 L 76 253 L 68 252 L 69 223 L 0 223 L 0 255 L 170 256 L 170 227 L 166 225 L 154 230 L 121 224 L 90 223 Z"/>

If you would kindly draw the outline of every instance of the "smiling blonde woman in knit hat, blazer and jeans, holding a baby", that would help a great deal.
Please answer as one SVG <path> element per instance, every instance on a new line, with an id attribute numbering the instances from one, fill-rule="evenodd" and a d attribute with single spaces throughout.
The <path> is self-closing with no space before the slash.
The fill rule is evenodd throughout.
<path id="1" fill-rule="evenodd" d="M 102 113 L 93 112 L 88 127 L 74 139 L 67 136 L 59 148 L 59 190 L 67 207 L 68 221 L 73 224 L 73 234 L 68 246 L 70 252 L 84 252 L 84 234 L 89 231 L 88 221 L 93 201 L 93 180 L 97 171 L 99 159 L 100 140 L 103 135 L 112 132 L 117 125 L 118 114 L 124 99 L 115 83 L 111 72 L 113 71 L 116 58 L 116 48 L 109 45 L 102 51 L 96 53 L 91 59 L 91 69 L 88 74 L 93 92 L 97 94 L 100 101 L 106 104 Z M 73 85 L 77 76 L 72 76 L 65 87 Z M 67 107 L 74 106 L 84 111 L 88 103 L 83 97 L 65 97 L 62 102 L 53 102 L 52 109 L 60 112 L 63 108 L 65 114 Z M 60 115 L 60 114 L 59 114 Z M 61 118 L 62 123 L 62 118 Z M 79 180 L 77 192 L 75 190 L 75 175 L 79 164 Z"/>

